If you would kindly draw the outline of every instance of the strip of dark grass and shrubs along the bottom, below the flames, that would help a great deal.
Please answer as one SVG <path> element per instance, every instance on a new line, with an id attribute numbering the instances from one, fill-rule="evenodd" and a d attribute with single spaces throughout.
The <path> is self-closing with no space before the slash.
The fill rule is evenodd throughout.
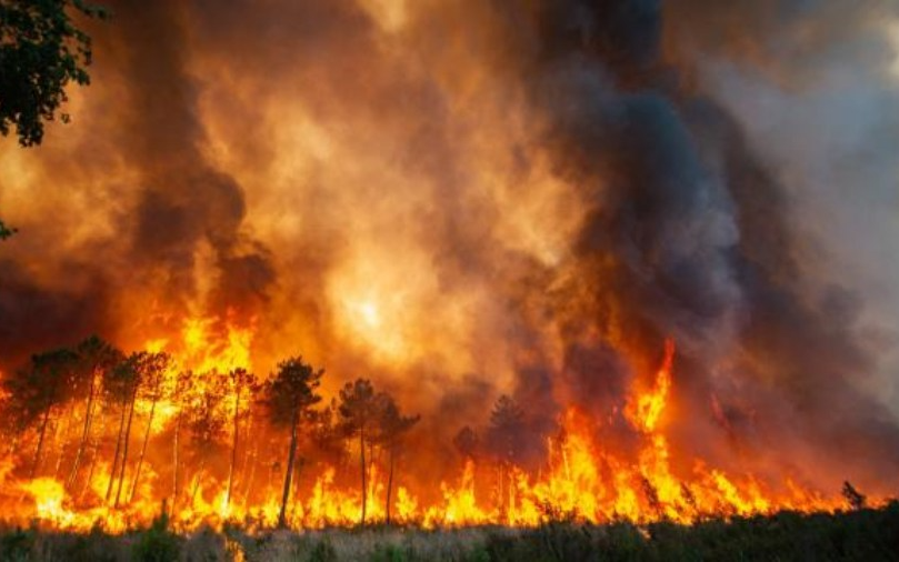
<path id="1" fill-rule="evenodd" d="M 899 502 L 837 514 L 781 512 L 686 526 L 560 521 L 537 529 L 393 526 L 270 531 L 203 529 L 180 535 L 164 519 L 122 535 L 0 530 L 0 560 L 31 561 L 899 561 Z"/>

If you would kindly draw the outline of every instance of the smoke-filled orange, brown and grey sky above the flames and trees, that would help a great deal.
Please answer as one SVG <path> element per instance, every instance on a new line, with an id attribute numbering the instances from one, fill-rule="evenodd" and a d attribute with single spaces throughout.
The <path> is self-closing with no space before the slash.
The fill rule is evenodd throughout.
<path id="1" fill-rule="evenodd" d="M 72 123 L 1 141 L 0 369 L 213 318 L 545 434 L 670 338 L 680 446 L 895 480 L 892 0 L 111 8 Z"/>

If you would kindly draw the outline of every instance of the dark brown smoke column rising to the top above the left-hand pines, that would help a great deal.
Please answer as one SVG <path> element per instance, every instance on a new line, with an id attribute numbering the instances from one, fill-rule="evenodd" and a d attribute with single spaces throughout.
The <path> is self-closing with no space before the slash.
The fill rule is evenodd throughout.
<path id="1" fill-rule="evenodd" d="M 241 230 L 243 190 L 202 152 L 198 86 L 184 61 L 184 10 L 181 2 L 114 7 L 111 47 L 126 53 L 128 121 L 138 131 L 126 151 L 142 172 L 142 194 L 124 228 L 132 255 L 164 280 L 170 303 L 197 297 L 198 250 L 209 244 L 216 269 L 210 310 L 227 303 L 248 319 L 264 303 L 274 270 L 268 251 Z"/>

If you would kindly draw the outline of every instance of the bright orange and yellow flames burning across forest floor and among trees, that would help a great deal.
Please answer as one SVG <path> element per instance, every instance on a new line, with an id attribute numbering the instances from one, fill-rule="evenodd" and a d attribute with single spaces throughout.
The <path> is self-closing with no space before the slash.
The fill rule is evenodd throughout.
<path id="1" fill-rule="evenodd" d="M 360 308 L 361 313 L 366 311 L 364 305 Z M 18 469 L 14 455 L 4 459 L 0 472 L 3 485 L 8 489 L 14 485 L 31 499 L 31 509 L 18 509 L 16 516 L 34 518 L 58 529 L 87 530 L 99 523 L 121 531 L 147 523 L 161 509 L 169 509 L 172 520 L 182 529 L 226 521 L 250 528 L 278 524 L 281 500 L 278 479 L 284 469 L 280 458 L 268 450 L 277 442 L 277 432 L 264 429 L 258 404 L 249 395 L 238 393 L 241 379 L 232 374 L 230 385 L 217 387 L 216 382 L 226 380 L 229 372 L 246 372 L 242 371 L 244 365 L 251 364 L 252 333 L 229 327 L 222 331 L 224 338 L 213 343 L 212 324 L 210 319 L 191 319 L 184 323 L 182 343 L 172 345 L 171 341 L 156 340 L 147 344 L 150 353 L 161 353 L 169 347 L 183 351 L 171 357 L 159 375 L 168 393 L 136 390 L 133 413 L 124 418 L 128 410 L 122 410 L 121 420 L 141 418 L 134 425 L 140 425 L 146 433 L 142 436 L 144 451 L 137 465 L 132 458 L 126 469 L 120 468 L 126 460 L 119 459 L 118 451 L 111 463 L 102 459 L 102 443 L 126 423 L 119 420 L 117 425 L 114 415 L 94 422 L 99 428 L 91 431 L 89 439 L 93 450 L 88 473 L 81 476 L 76 472 L 71 480 L 78 482 L 87 478 L 83 486 L 70 486 L 58 475 L 47 475 L 50 469 L 47 462 L 39 475 L 27 479 L 22 475 L 23 458 Z M 363 461 L 368 463 L 367 520 L 379 521 L 387 516 L 388 485 L 393 488 L 390 499 L 393 521 L 426 528 L 486 523 L 531 526 L 556 518 L 590 522 L 623 519 L 638 523 L 667 519 L 689 523 L 712 514 L 749 515 L 779 509 L 810 511 L 841 506 L 838 498 L 822 495 L 789 476 L 782 482 L 765 482 L 750 473 L 730 474 L 708 466 L 700 459 L 693 459 L 692 473 L 676 473 L 671 464 L 675 453 L 665 433 L 667 424 L 660 423 L 675 383 L 673 364 L 675 344 L 668 341 L 661 365 L 648 390 L 640 391 L 635 385 L 628 398 L 625 418 L 639 441 L 638 450 L 632 453 L 608 441 L 603 428 L 593 418 L 569 408 L 559 419 L 558 436 L 548 439 L 547 459 L 539 470 L 526 470 L 508 461 L 469 458 L 461 464 L 458 479 L 440 483 L 439 496 L 426 501 L 428 490 L 422 490 L 420 484 L 418 492 L 422 495 L 418 496 L 408 483 L 388 482 L 393 475 L 386 472 L 386 442 L 379 442 L 378 451 L 374 441 L 366 444 L 369 455 Z M 213 378 L 197 369 L 207 369 Z M 209 397 L 214 400 L 208 402 Z M 193 413 L 186 413 L 188 411 Z M 57 474 L 72 454 L 72 443 L 67 443 L 66 439 L 77 435 L 72 428 L 80 423 L 78 414 L 79 409 L 72 407 L 68 414 L 59 417 L 53 429 L 51 440 L 58 451 L 52 471 Z M 200 432 L 196 433 L 194 428 L 191 436 L 194 444 L 220 448 L 233 441 L 228 479 L 220 465 L 226 454 L 196 450 L 190 455 L 184 451 L 184 433 L 192 423 L 200 424 Z M 224 430 L 229 424 L 232 425 L 230 435 Z M 314 431 L 313 426 L 307 428 Z M 212 440 L 207 441 L 210 435 Z M 140 446 L 134 435 L 126 438 L 126 443 L 128 441 L 132 448 Z M 152 444 L 152 454 L 144 458 L 147 443 Z M 119 445 L 122 444 L 120 436 Z M 351 449 L 343 451 L 346 454 Z M 238 459 L 238 453 L 242 459 Z M 180 454 L 180 459 L 173 461 L 171 454 Z M 290 492 L 286 522 L 294 528 L 359 522 L 362 494 L 353 486 L 353 479 L 348 478 L 352 474 L 350 465 L 309 461 L 314 459 L 301 461 L 298 483 Z M 178 465 L 172 468 L 171 462 Z M 266 462 L 272 463 L 267 465 Z M 313 472 L 317 475 L 313 476 Z M 172 479 L 179 479 L 179 474 L 180 482 L 169 484 Z M 236 485 L 230 481 L 234 474 L 238 475 Z M 117 482 L 118 486 L 124 483 L 123 495 L 122 492 L 110 493 Z M 174 498 L 172 490 L 178 491 Z"/>

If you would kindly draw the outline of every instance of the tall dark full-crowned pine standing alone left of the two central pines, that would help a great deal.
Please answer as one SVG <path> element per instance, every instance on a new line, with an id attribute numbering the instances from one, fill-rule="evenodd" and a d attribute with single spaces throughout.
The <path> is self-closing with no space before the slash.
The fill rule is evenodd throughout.
<path id="1" fill-rule="evenodd" d="M 278 526 L 281 528 L 287 526 L 287 504 L 290 499 L 300 422 L 308 415 L 309 409 L 321 401 L 318 388 L 323 374 L 323 369 L 314 370 L 298 355 L 278 363 L 278 372 L 264 388 L 264 401 L 271 422 L 290 428 L 284 488 L 281 493 L 281 511 L 278 514 Z"/>

